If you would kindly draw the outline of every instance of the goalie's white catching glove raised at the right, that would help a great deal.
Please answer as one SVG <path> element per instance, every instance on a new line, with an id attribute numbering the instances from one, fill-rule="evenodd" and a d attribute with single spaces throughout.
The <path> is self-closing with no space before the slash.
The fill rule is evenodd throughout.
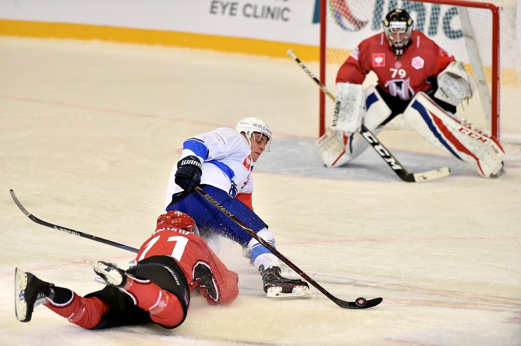
<path id="1" fill-rule="evenodd" d="M 453 106 L 474 95 L 476 86 L 461 61 L 452 61 L 438 75 L 438 89 L 434 97 Z"/>

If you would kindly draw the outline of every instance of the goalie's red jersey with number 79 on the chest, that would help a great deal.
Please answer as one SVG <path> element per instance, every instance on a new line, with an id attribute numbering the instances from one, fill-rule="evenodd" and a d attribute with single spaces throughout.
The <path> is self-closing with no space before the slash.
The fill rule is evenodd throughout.
<path id="1" fill-rule="evenodd" d="M 427 81 L 454 61 L 445 50 L 423 33 L 413 30 L 411 43 L 396 56 L 382 33 L 362 41 L 345 60 L 337 74 L 337 83 L 362 84 L 367 73 L 374 71 L 378 84 L 389 95 L 410 100 L 417 92 L 427 92 Z"/>

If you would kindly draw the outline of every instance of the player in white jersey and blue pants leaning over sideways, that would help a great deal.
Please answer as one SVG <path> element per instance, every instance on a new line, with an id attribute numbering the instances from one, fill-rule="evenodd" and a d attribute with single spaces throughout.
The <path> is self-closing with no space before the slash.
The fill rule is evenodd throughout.
<path id="1" fill-rule="evenodd" d="M 280 275 L 280 261 L 260 242 L 201 195 L 200 186 L 259 237 L 275 247 L 268 225 L 253 211 L 253 163 L 270 151 L 272 133 L 258 118 L 244 118 L 235 130 L 220 127 L 188 138 L 181 159 L 172 169 L 166 193 L 166 210 L 179 210 L 193 217 L 201 236 L 217 234 L 238 242 L 251 253 L 264 281 L 267 297 L 309 297 L 309 286 L 300 279 Z"/>

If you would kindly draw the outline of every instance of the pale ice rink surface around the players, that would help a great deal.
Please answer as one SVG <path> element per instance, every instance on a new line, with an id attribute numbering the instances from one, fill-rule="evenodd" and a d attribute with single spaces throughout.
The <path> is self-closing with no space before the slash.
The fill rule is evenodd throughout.
<path id="1" fill-rule="evenodd" d="M 379 138 L 408 170 L 452 174 L 405 183 L 372 149 L 327 170 L 314 148 L 318 93 L 289 58 L 0 37 L 0 344 L 520 345 L 518 157 L 486 180 L 388 130 Z M 333 296 L 380 305 L 341 309 L 314 287 L 309 299 L 268 299 L 240 247 L 222 239 L 239 297 L 209 306 L 193 294 L 176 329 L 84 330 L 44 306 L 17 321 L 15 267 L 84 295 L 102 288 L 84 260 L 126 268 L 132 253 L 32 222 L 9 189 L 44 221 L 139 247 L 183 140 L 248 116 L 274 131 L 253 203 L 277 249 Z"/>

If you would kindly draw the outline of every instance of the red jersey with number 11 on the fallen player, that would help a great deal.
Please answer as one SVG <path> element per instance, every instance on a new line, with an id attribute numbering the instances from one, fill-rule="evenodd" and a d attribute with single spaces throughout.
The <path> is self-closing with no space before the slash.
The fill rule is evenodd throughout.
<path id="1" fill-rule="evenodd" d="M 172 227 L 157 230 L 143 243 L 136 260 L 139 262 L 155 255 L 166 255 L 175 259 L 187 277 L 190 291 L 199 287 L 200 293 L 211 305 L 230 304 L 239 294 L 237 273 L 228 270 L 203 238 L 191 232 Z M 194 280 L 194 272 L 207 273 L 208 270 L 214 277 L 214 287 L 209 290 L 215 292 L 216 297 L 212 297 L 206 288 L 200 286 L 199 281 Z"/>

